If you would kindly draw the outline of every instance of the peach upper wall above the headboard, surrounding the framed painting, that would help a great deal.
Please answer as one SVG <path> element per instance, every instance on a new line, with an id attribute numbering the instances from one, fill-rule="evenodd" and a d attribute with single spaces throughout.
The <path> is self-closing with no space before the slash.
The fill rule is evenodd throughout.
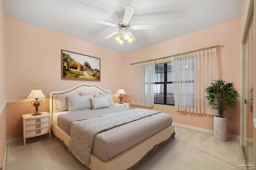
<path id="1" fill-rule="evenodd" d="M 51 91 L 79 83 L 95 83 L 112 94 L 123 86 L 118 69 L 124 64 L 122 53 L 9 17 L 5 24 L 6 72 L 11 75 L 6 81 L 7 100 L 24 99 L 32 88 L 49 97 Z M 61 49 L 100 58 L 101 81 L 61 80 Z"/>

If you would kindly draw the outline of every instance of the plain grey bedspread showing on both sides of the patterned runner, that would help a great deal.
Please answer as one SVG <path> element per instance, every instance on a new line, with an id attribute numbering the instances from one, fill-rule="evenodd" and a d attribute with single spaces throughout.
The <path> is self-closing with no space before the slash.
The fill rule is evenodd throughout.
<path id="1" fill-rule="evenodd" d="M 67 131 L 70 129 L 71 134 L 74 126 L 74 122 L 78 119 L 88 119 L 90 117 L 99 117 L 105 115 L 105 113 L 117 113 L 125 111 L 127 107 L 110 107 L 106 109 L 98 109 L 98 111 L 79 111 L 64 114 L 63 117 L 58 117 L 58 125 L 62 130 Z M 131 108 L 130 108 L 131 109 Z M 77 115 L 78 118 L 74 118 Z M 69 120 L 71 118 L 71 120 Z M 66 121 L 67 124 L 61 123 Z M 73 123 L 72 123 L 73 121 Z M 108 161 L 121 154 L 122 152 L 130 149 L 138 143 L 144 141 L 148 137 L 161 131 L 172 124 L 172 118 L 166 113 L 157 113 L 152 116 L 144 117 L 137 121 L 118 126 L 107 131 L 98 133 L 94 138 L 92 145 L 92 154 L 98 157 L 102 161 Z"/>

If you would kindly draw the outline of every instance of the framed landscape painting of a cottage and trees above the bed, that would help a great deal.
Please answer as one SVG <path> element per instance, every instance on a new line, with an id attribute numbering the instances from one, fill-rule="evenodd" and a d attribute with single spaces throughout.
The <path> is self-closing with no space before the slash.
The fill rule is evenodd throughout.
<path id="1" fill-rule="evenodd" d="M 100 81 L 100 58 L 61 50 L 61 79 Z"/>

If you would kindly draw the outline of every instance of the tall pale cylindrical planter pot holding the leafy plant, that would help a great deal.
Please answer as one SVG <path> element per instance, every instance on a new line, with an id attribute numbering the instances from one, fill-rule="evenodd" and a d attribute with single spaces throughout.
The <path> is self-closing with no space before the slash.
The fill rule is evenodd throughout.
<path id="1" fill-rule="evenodd" d="M 227 118 L 214 116 L 214 139 L 227 141 Z"/>

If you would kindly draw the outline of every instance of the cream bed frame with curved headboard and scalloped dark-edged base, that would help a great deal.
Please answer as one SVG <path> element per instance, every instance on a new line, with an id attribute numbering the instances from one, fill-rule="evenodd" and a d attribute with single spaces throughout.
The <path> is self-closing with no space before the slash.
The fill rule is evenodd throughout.
<path id="1" fill-rule="evenodd" d="M 67 90 L 50 92 L 50 114 L 52 119 L 52 113 L 56 111 L 56 94 L 71 94 L 76 92 L 110 92 L 104 90 L 96 84 L 78 84 Z M 53 134 L 62 142 L 62 144 L 68 148 L 70 136 L 60 129 L 53 121 L 51 121 L 51 129 Z M 82 163 L 88 170 L 120 170 L 133 169 L 138 165 L 148 154 L 155 152 L 158 146 L 168 141 L 170 138 L 174 138 L 174 125 L 170 125 L 141 143 L 135 145 L 129 150 L 126 150 L 122 154 L 114 157 L 112 160 L 104 162 L 98 159 L 94 154 L 90 156 L 90 163 L 85 166 L 80 158 L 78 158 L 73 152 L 71 152 L 80 163 Z"/>

